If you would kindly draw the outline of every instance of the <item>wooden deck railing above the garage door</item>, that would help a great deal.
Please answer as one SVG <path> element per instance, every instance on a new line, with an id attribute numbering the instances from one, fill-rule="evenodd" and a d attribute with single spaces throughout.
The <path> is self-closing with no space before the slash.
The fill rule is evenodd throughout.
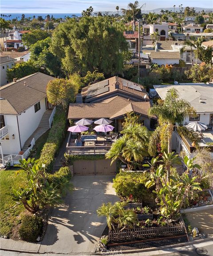
<path id="1" fill-rule="evenodd" d="M 70 155 L 104 155 L 110 150 L 111 146 L 93 147 L 67 147 L 67 154 Z"/>

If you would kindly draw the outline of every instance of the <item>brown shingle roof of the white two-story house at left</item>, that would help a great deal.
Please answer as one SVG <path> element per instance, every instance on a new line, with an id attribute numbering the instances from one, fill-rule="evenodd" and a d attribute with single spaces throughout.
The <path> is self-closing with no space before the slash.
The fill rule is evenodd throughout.
<path id="1" fill-rule="evenodd" d="M 0 88 L 0 114 L 19 115 L 47 96 L 46 88 L 55 79 L 43 73 L 35 73 Z M 24 84 L 26 82 L 26 85 Z"/>

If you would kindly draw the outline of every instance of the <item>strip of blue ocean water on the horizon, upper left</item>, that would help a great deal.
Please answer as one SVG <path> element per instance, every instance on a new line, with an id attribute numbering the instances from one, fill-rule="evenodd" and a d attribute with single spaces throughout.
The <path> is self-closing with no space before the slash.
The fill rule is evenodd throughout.
<path id="1" fill-rule="evenodd" d="M 4 15 L 11 15 L 11 17 L 4 17 L 4 16 L 1 16 L 2 18 L 6 19 L 6 20 L 11 20 L 11 19 L 18 19 L 20 20 L 21 19 L 21 15 L 22 13 L 0 13 L 0 14 L 4 14 Z M 81 13 L 24 13 L 25 15 L 25 18 L 29 18 L 29 17 L 32 17 L 32 16 L 36 16 L 36 18 L 38 16 L 42 16 L 43 19 L 45 19 L 45 17 L 47 16 L 47 14 L 49 14 L 50 16 L 53 15 L 54 18 L 56 19 L 59 19 L 59 18 L 64 18 L 65 16 L 69 16 L 71 17 L 72 15 L 76 15 L 76 16 L 82 16 Z"/>

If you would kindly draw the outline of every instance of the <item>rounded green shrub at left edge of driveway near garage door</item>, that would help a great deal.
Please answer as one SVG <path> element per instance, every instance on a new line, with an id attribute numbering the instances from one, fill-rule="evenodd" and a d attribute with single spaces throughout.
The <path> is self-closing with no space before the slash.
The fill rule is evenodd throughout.
<path id="1" fill-rule="evenodd" d="M 69 183 L 71 179 L 71 172 L 69 167 L 61 167 L 58 172 L 55 172 L 54 174 L 47 173 L 47 180 L 49 183 L 54 183 L 58 186 L 60 190 L 63 190 L 63 188 L 66 186 L 67 183 Z"/>

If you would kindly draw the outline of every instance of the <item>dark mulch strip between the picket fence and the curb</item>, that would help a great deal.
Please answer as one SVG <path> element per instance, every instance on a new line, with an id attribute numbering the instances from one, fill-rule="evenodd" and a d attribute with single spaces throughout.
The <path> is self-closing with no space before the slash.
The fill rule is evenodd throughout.
<path id="1" fill-rule="evenodd" d="M 144 249 L 144 248 L 150 248 L 150 247 L 160 247 L 160 246 L 166 246 L 166 245 L 172 245 L 172 244 L 179 244 L 187 242 L 186 236 L 181 237 L 173 237 L 173 238 L 165 238 L 163 240 L 150 240 L 150 241 L 144 241 L 142 243 L 136 243 L 136 244 L 126 244 L 126 245 L 116 245 L 116 246 L 108 246 L 107 249 L 111 251 L 115 250 L 133 250 L 133 249 Z"/>

